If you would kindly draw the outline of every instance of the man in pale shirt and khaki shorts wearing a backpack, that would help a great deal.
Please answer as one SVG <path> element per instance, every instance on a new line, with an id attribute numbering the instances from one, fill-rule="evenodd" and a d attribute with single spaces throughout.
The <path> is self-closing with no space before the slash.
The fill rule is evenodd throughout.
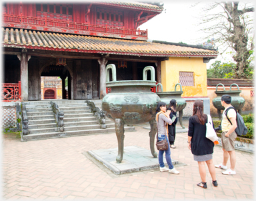
<path id="1" fill-rule="evenodd" d="M 223 162 L 221 164 L 215 165 L 215 167 L 225 170 L 224 172 L 222 172 L 222 174 L 231 175 L 236 174 L 235 138 L 237 137 L 237 134 L 235 132 L 235 128 L 237 128 L 237 112 L 234 109 L 230 109 L 227 111 L 227 116 L 225 115 L 227 108 L 232 106 L 231 96 L 229 95 L 223 95 L 221 97 L 221 105 L 225 107 L 225 110 L 222 114 L 221 128 L 217 129 L 222 130 L 221 144 L 223 149 Z M 231 120 L 232 125 L 227 117 L 229 118 L 229 120 Z M 229 157 L 230 168 L 227 169 L 227 160 L 229 160 Z"/>

